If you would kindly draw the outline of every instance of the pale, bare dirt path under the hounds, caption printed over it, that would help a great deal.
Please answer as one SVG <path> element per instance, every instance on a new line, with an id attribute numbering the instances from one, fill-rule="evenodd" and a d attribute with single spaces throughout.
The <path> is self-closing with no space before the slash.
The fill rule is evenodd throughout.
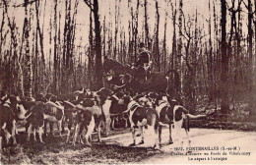
<path id="1" fill-rule="evenodd" d="M 178 139 L 183 138 L 183 146 Z M 108 138 L 109 141 L 128 146 L 132 142 L 131 134 L 117 135 Z M 171 145 L 167 144 L 168 131 L 163 130 L 160 154 L 148 157 L 141 163 L 186 163 L 186 164 L 209 164 L 209 163 L 228 163 L 228 164 L 256 164 L 256 133 L 236 132 L 209 129 L 191 129 L 191 145 L 189 148 L 188 140 L 184 133 L 179 137 L 174 136 L 176 141 Z M 138 138 L 138 141 L 140 139 Z M 153 140 L 146 132 L 145 144 L 137 147 L 150 147 Z M 183 150 L 180 149 L 182 146 Z M 197 150 L 196 150 L 197 149 Z M 200 149 L 200 150 L 199 150 Z M 202 150 L 204 149 L 204 150 Z M 191 152 L 188 152 L 192 150 Z M 224 154 L 224 152 L 226 154 Z M 206 155 L 208 154 L 208 155 Z"/>

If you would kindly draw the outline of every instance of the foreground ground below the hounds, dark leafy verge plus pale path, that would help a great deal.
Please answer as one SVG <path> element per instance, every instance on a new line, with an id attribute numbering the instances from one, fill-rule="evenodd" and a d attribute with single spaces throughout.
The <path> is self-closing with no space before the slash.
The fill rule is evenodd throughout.
<path id="1" fill-rule="evenodd" d="M 93 141 L 92 146 L 86 146 L 80 143 L 76 146 L 66 144 L 64 142 L 65 136 L 63 138 L 44 138 L 45 143 L 39 143 L 38 141 L 33 140 L 27 142 L 26 134 L 20 134 L 18 137 L 18 139 L 20 139 L 18 141 L 19 144 L 17 146 L 11 149 L 10 147 L 3 149 L 0 163 L 256 163 L 255 132 L 192 128 L 190 131 L 192 141 L 191 146 L 209 147 L 207 150 L 193 150 L 192 152 L 188 152 L 187 150 L 188 142 L 185 132 L 182 132 L 178 136 L 173 132 L 172 138 L 174 143 L 170 145 L 167 143 L 168 129 L 163 129 L 160 150 L 155 150 L 152 147 L 154 140 L 149 135 L 147 129 L 145 134 L 145 143 L 136 145 L 135 147 L 129 146 L 132 142 L 132 136 L 129 129 L 115 130 L 110 133 L 109 137 L 102 138 L 102 143 Z M 180 149 L 181 138 L 184 139 L 182 149 Z M 96 135 L 93 136 L 93 140 L 94 139 L 96 139 Z M 137 142 L 139 142 L 139 140 L 140 137 L 137 137 Z M 224 151 L 227 155 L 223 155 Z M 246 152 L 247 155 L 233 156 L 229 151 L 237 152 L 237 154 L 245 154 Z M 209 155 L 204 155 L 206 152 Z M 203 160 L 204 158 L 209 160 Z"/>

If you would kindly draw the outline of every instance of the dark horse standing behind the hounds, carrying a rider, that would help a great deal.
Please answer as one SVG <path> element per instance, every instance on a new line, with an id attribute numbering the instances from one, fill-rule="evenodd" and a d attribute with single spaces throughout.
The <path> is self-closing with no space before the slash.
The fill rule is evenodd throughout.
<path id="1" fill-rule="evenodd" d="M 103 73 L 107 81 L 115 88 L 127 88 L 137 92 L 167 92 L 173 97 L 179 88 L 179 75 L 174 70 L 169 70 L 166 74 L 152 72 L 149 79 L 146 80 L 145 71 L 132 69 L 130 66 L 105 58 Z"/>

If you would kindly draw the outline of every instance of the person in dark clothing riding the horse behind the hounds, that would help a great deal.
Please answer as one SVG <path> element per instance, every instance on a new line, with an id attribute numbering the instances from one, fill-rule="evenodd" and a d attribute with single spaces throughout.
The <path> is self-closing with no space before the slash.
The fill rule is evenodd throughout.
<path id="1" fill-rule="evenodd" d="M 152 64 L 151 61 L 151 52 L 145 48 L 145 44 L 142 42 L 139 44 L 139 57 L 134 67 L 137 68 L 139 77 L 149 79 Z"/>

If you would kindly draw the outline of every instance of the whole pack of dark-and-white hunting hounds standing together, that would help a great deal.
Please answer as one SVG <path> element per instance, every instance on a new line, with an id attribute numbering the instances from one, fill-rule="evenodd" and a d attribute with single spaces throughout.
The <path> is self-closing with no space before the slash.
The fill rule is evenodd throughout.
<path id="1" fill-rule="evenodd" d="M 184 128 L 190 143 L 189 119 L 202 117 L 205 115 L 189 114 L 184 106 L 165 93 L 149 92 L 132 96 L 129 92 L 114 92 L 104 87 L 98 91 L 82 88 L 65 97 L 40 93 L 35 98 L 21 100 L 19 96 L 1 91 L 1 145 L 5 147 L 17 143 L 17 125 L 22 122 L 28 141 L 39 140 L 43 143 L 43 138 L 49 136 L 47 134 L 53 136 L 55 124 L 58 136 L 62 138 L 65 134 L 66 143 L 71 142 L 73 145 L 77 142 L 91 145 L 95 132 L 98 142 L 101 142 L 101 134 L 108 136 L 110 129 L 130 127 L 133 138 L 130 146 L 145 142 L 146 128 L 155 140 L 153 147 L 160 148 L 162 127 L 169 128 L 170 144 L 173 143 L 173 128 L 178 131 L 177 134 Z M 141 133 L 139 143 L 135 140 L 137 129 Z"/>

